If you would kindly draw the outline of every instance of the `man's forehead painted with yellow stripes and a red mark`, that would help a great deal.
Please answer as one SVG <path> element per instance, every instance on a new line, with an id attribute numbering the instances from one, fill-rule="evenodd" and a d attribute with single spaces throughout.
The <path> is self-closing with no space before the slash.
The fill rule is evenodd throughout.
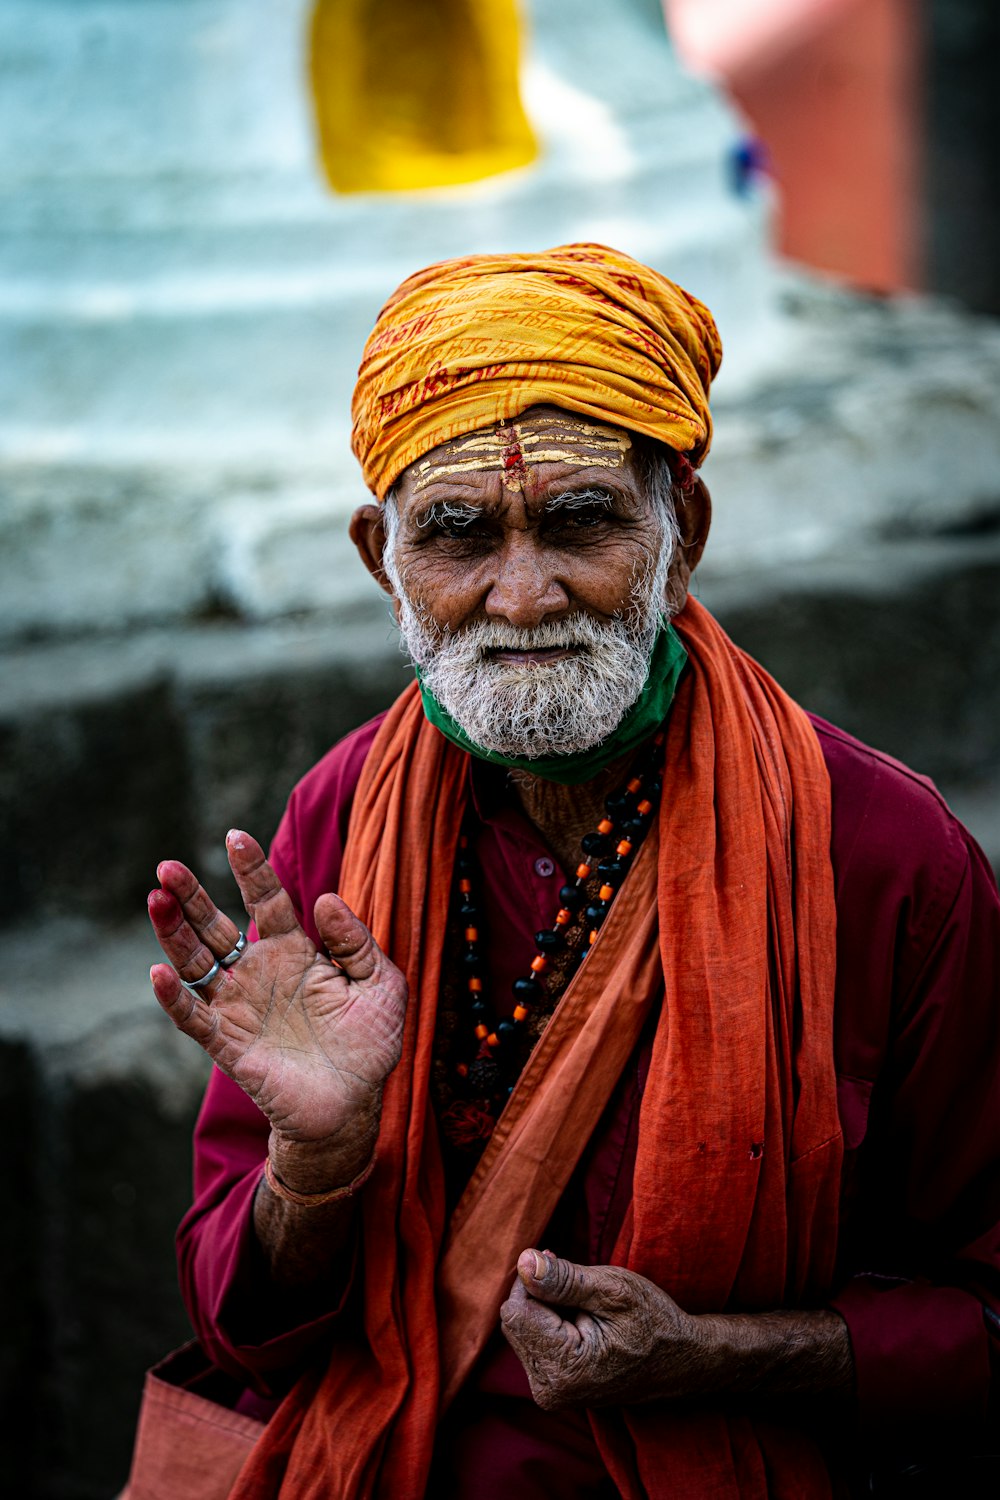
<path id="1" fill-rule="evenodd" d="M 420 494 L 441 480 L 499 471 L 510 489 L 519 489 L 535 465 L 622 468 L 631 450 L 633 440 L 624 428 L 571 411 L 534 406 L 520 417 L 439 444 L 411 464 L 405 478 L 406 488 Z"/>

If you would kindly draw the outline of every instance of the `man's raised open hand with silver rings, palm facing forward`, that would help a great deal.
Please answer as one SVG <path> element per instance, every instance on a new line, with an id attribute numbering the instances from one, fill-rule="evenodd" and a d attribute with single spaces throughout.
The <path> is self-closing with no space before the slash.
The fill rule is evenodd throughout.
<path id="1" fill-rule="evenodd" d="M 208 974 L 238 933 L 192 872 L 166 860 L 148 897 L 169 964 L 150 970 L 156 999 L 283 1143 L 327 1148 L 378 1120 L 382 1084 L 399 1062 L 406 981 L 337 896 L 315 908 L 327 957 L 256 840 L 234 830 L 226 852 L 259 940 L 196 996 L 186 990 L 181 980 Z"/>

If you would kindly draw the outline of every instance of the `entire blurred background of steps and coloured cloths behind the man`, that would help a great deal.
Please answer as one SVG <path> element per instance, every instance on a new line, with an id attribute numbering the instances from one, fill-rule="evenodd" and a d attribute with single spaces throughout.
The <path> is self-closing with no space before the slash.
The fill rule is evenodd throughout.
<path id="1" fill-rule="evenodd" d="M 349 393 L 411 270 L 603 240 L 726 345 L 700 596 L 1000 861 L 994 0 L 0 0 L 0 1474 L 187 1336 L 144 896 L 405 681 Z"/>

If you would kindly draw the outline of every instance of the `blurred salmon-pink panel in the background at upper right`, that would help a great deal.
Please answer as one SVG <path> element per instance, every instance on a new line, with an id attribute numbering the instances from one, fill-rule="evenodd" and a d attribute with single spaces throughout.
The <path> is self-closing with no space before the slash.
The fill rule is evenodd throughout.
<path id="1" fill-rule="evenodd" d="M 918 286 L 912 0 L 664 3 L 682 57 L 723 81 L 768 146 L 781 250 L 864 286 Z"/>

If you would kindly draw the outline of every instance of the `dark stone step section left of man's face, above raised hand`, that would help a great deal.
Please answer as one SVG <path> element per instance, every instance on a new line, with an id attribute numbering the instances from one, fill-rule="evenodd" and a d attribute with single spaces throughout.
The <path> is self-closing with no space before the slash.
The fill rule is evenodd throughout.
<path id="1" fill-rule="evenodd" d="M 168 855 L 226 874 L 298 776 L 406 681 L 388 612 L 351 628 L 145 632 L 10 652 L 0 688 L 0 906 L 135 912 Z"/>

